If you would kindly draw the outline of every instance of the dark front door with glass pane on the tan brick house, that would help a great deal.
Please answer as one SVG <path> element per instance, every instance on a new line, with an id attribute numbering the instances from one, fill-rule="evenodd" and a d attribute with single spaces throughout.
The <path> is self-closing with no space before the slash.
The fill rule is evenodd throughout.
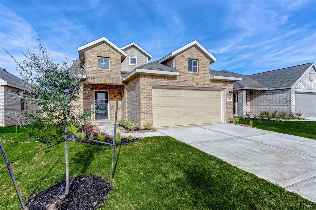
<path id="1" fill-rule="evenodd" d="M 109 119 L 109 92 L 95 91 L 95 120 L 108 120 Z"/>

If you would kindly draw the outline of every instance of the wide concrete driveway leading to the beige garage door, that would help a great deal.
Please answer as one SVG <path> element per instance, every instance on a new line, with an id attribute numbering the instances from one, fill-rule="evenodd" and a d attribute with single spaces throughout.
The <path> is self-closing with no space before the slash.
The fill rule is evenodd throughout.
<path id="1" fill-rule="evenodd" d="M 316 140 L 232 124 L 157 130 L 316 201 Z"/>

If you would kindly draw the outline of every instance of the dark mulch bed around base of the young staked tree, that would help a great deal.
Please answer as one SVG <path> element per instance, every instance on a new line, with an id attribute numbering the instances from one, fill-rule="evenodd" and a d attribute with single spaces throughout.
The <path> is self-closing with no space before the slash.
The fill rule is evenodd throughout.
<path id="1" fill-rule="evenodd" d="M 27 210 L 90 210 L 97 209 L 106 201 L 106 196 L 112 191 L 110 184 L 103 178 L 93 174 L 73 177 L 69 180 L 69 193 L 65 190 L 58 195 L 61 188 L 65 188 L 66 181 L 58 182 L 54 186 L 32 196 L 25 203 Z M 56 196 L 58 195 L 58 197 Z"/>

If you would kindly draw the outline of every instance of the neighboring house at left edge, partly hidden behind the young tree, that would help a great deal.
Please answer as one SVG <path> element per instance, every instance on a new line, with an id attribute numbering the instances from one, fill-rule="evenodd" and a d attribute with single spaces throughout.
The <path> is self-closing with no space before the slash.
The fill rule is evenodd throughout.
<path id="1" fill-rule="evenodd" d="M 16 125 L 28 110 L 22 97 L 28 83 L 0 67 L 0 126 Z"/>

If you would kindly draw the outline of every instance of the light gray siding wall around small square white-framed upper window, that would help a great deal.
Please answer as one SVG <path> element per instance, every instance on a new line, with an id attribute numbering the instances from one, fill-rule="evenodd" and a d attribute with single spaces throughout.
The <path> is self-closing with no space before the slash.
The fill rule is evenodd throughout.
<path id="1" fill-rule="evenodd" d="M 135 46 L 127 47 L 124 51 L 127 53 L 127 57 L 121 64 L 122 71 L 131 72 L 134 68 L 147 63 L 147 56 Z M 137 57 L 137 65 L 130 65 L 129 57 Z"/>

